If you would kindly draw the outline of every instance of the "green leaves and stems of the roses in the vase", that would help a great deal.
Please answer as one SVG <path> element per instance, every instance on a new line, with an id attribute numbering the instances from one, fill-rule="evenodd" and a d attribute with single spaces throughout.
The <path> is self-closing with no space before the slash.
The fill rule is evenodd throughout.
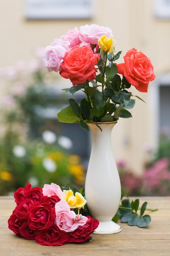
<path id="1" fill-rule="evenodd" d="M 121 79 L 117 74 L 115 61 L 120 54 L 121 52 L 115 55 L 104 52 L 103 55 L 101 54 L 100 60 L 97 61 L 99 72 L 96 74 L 95 80 L 66 89 L 66 92 L 71 94 L 81 90 L 85 97 L 80 105 L 75 100 L 69 99 L 71 109 L 64 108 L 57 114 L 60 122 L 79 122 L 80 127 L 88 131 L 86 124 L 88 122 L 117 121 L 119 117 L 132 117 L 127 110 L 135 105 L 135 100 L 131 99 L 132 93 L 127 90 L 131 84 L 124 76 Z"/>

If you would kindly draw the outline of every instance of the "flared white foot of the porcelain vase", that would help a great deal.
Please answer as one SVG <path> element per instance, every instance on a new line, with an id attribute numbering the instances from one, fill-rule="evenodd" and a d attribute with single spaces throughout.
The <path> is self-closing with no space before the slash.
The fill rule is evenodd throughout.
<path id="1" fill-rule="evenodd" d="M 113 222 L 112 220 L 106 222 L 99 222 L 99 226 L 93 234 L 115 234 L 121 231 L 121 226 L 117 223 Z"/>

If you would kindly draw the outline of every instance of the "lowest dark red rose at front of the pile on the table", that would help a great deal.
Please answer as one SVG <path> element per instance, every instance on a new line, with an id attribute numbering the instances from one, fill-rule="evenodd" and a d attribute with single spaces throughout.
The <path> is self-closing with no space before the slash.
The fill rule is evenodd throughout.
<path id="1" fill-rule="evenodd" d="M 57 225 L 53 224 L 49 229 L 36 231 L 35 242 L 40 245 L 65 245 L 69 240 L 69 233 L 59 229 Z"/>

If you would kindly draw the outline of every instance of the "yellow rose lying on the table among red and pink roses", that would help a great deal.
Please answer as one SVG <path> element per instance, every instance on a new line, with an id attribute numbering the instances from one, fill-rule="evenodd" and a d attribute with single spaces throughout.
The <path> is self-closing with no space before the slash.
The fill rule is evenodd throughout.
<path id="1" fill-rule="evenodd" d="M 84 205 L 86 204 L 86 199 L 79 192 L 73 193 L 73 190 L 63 190 L 62 200 L 65 200 L 71 209 L 84 209 Z"/>

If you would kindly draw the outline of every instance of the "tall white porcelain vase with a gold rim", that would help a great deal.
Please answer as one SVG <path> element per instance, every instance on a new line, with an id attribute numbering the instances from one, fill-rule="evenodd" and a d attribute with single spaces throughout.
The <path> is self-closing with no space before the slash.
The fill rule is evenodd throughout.
<path id="1" fill-rule="evenodd" d="M 88 124 L 92 132 L 91 156 L 85 182 L 87 206 L 99 220 L 95 234 L 114 234 L 121 226 L 112 221 L 121 200 L 121 184 L 113 155 L 111 132 L 116 122 Z"/>

